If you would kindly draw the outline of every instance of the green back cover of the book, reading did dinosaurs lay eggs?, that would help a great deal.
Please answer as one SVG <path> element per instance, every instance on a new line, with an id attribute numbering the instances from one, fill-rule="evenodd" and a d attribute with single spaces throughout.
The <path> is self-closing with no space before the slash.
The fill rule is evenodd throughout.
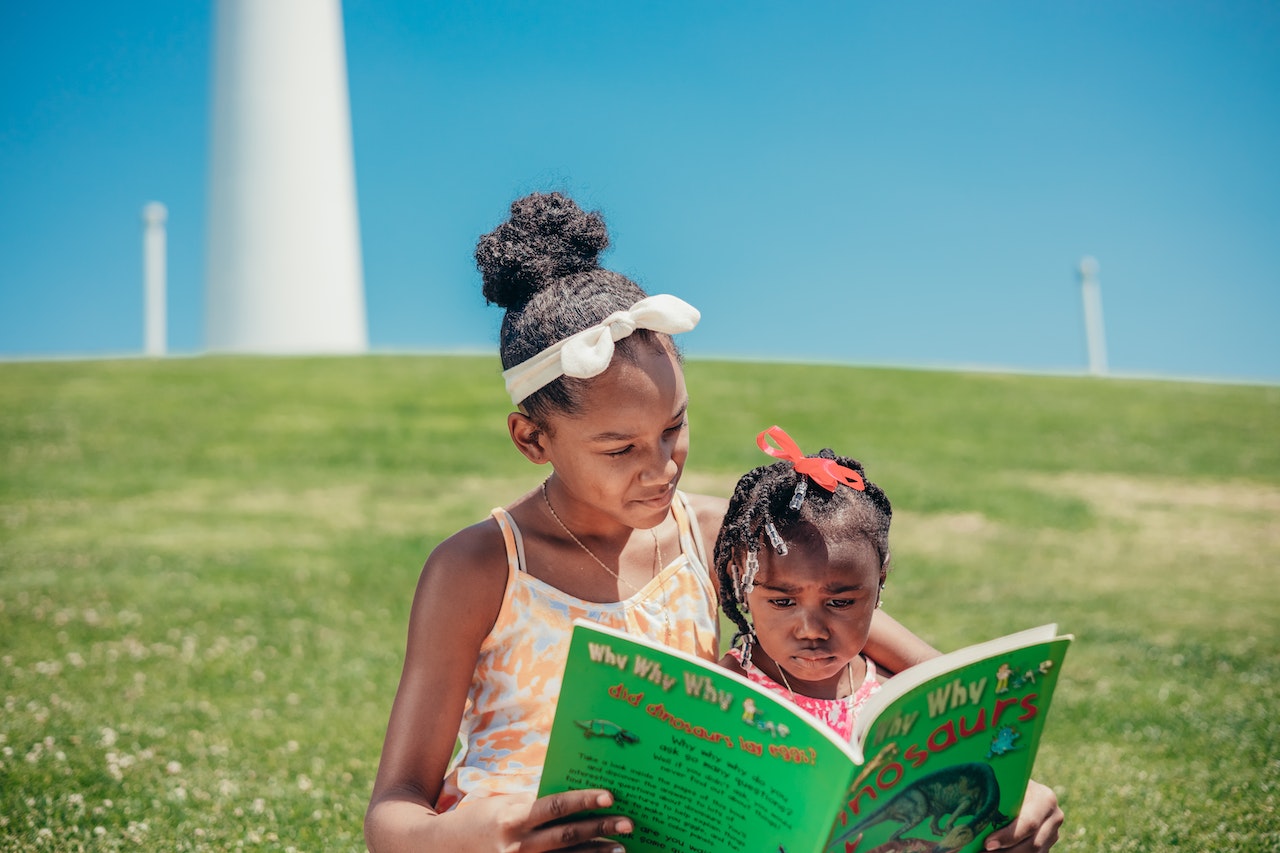
<path id="1" fill-rule="evenodd" d="M 605 788 L 628 853 L 818 853 L 846 744 L 714 663 L 579 622 L 539 795 Z"/>

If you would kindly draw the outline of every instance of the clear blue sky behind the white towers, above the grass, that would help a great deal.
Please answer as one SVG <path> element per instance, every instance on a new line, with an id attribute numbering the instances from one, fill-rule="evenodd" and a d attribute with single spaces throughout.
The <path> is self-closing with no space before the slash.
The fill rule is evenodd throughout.
<path id="1" fill-rule="evenodd" d="M 1280 382 L 1280 5 L 348 0 L 375 350 L 492 350 L 512 199 L 604 213 L 690 356 Z M 0 3 L 0 356 L 204 345 L 212 4 Z"/>

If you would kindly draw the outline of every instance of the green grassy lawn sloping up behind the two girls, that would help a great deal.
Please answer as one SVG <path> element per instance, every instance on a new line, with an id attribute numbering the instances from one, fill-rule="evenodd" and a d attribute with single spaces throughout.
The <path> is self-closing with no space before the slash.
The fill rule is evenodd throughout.
<path id="1" fill-rule="evenodd" d="M 361 850 L 430 548 L 544 474 L 494 359 L 0 365 L 0 849 Z M 897 510 L 934 644 L 1078 642 L 1060 850 L 1280 849 L 1280 388 L 691 361 L 685 487 L 773 423 Z"/>

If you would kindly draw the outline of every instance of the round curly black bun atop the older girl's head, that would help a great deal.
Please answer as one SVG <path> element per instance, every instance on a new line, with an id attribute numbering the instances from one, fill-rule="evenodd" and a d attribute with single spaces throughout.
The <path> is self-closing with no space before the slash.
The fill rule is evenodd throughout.
<path id="1" fill-rule="evenodd" d="M 476 266 L 484 298 L 522 306 L 552 280 L 595 269 L 609 245 L 604 219 L 558 192 L 535 192 L 511 205 L 511 219 L 480 238 Z"/>

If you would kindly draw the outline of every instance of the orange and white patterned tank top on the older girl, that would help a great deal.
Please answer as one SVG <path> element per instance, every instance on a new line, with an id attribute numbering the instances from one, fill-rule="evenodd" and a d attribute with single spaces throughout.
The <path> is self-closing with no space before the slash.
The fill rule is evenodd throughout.
<path id="1" fill-rule="evenodd" d="M 444 777 L 438 811 L 481 797 L 538 790 L 575 619 L 666 642 L 708 661 L 718 658 L 716 590 L 698 520 L 681 492 L 672 514 L 681 553 L 630 598 L 602 603 L 567 596 L 531 576 L 515 520 L 506 510 L 493 510 L 507 544 L 507 589 L 480 646 L 458 731 L 462 749 Z"/>

